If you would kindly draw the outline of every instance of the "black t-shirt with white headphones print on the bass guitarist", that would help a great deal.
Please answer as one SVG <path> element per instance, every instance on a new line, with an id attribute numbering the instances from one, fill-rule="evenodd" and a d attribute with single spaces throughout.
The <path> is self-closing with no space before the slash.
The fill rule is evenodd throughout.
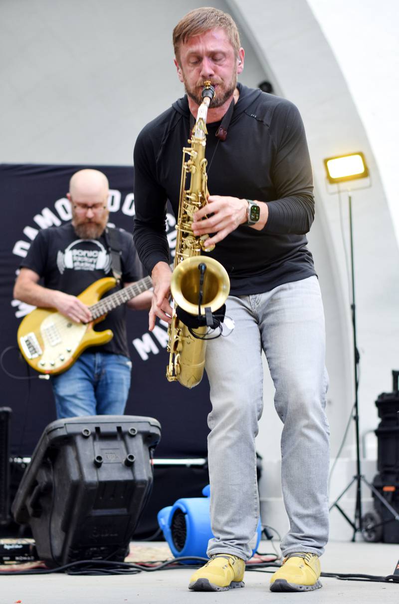
<path id="1" fill-rule="evenodd" d="M 121 250 L 122 281 L 131 283 L 142 277 L 141 265 L 133 245 L 132 235 L 117 230 Z M 43 278 L 45 288 L 57 289 L 66 294 L 78 295 L 89 285 L 103 277 L 112 277 L 109 235 L 98 239 L 79 239 L 71 223 L 51 226 L 39 231 L 33 240 L 21 267 L 29 268 Z M 113 246 L 115 247 L 115 245 Z M 120 289 L 111 289 L 105 295 Z M 126 306 L 112 310 L 97 331 L 112 329 L 113 338 L 102 346 L 93 346 L 90 352 L 110 352 L 129 356 L 126 336 Z"/>

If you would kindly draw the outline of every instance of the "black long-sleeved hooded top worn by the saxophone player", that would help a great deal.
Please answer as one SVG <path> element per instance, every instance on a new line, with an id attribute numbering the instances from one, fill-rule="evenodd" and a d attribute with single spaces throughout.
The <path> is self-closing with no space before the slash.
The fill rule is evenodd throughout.
<path id="1" fill-rule="evenodd" d="M 298 109 L 284 98 L 237 85 L 225 141 L 206 124 L 210 194 L 267 202 L 263 230 L 240 225 L 209 255 L 228 271 L 232 295 L 258 294 L 314 275 L 305 233 L 314 217 L 313 185 L 304 126 Z M 151 273 L 169 262 L 166 204 L 178 213 L 182 147 L 188 146 L 187 96 L 173 103 L 138 135 L 135 152 L 134 239 Z"/>

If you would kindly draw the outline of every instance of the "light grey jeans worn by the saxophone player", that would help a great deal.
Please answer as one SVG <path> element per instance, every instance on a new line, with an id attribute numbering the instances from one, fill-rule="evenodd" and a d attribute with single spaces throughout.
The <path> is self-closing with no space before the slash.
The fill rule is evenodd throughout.
<path id="1" fill-rule="evenodd" d="M 229 297 L 235 322 L 227 337 L 209 341 L 206 373 L 211 526 L 208 556 L 231 553 L 247 560 L 259 518 L 255 437 L 263 410 L 264 350 L 275 385 L 275 408 L 284 423 L 281 480 L 290 530 L 284 556 L 321 555 L 328 539 L 329 427 L 325 416 L 324 312 L 317 277 L 270 292 Z"/>

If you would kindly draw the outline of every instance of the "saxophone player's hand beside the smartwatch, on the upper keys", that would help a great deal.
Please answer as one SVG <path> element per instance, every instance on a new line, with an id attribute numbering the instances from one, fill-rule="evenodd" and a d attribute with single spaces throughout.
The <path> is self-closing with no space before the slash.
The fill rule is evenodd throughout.
<path id="1" fill-rule="evenodd" d="M 248 202 L 237 197 L 210 195 L 208 204 L 194 214 L 193 233 L 195 236 L 216 233 L 205 241 L 205 247 L 225 239 L 238 225 L 247 220 Z M 212 214 L 212 216 L 209 216 Z M 208 216 L 203 219 L 204 216 Z"/>

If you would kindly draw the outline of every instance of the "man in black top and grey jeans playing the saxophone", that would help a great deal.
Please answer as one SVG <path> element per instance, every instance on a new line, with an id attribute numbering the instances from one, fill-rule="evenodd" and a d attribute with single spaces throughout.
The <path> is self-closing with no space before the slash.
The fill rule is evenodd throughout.
<path id="1" fill-rule="evenodd" d="M 203 7 L 173 31 L 174 64 L 185 96 L 147 124 L 135 146 L 135 245 L 152 275 L 150 330 L 170 322 L 171 272 L 165 204 L 177 215 L 180 154 L 196 120 L 204 82 L 215 96 L 206 118 L 208 204 L 194 214 L 195 236 L 209 234 L 211 257 L 226 269 L 226 315 L 235 329 L 209 342 L 208 460 L 211 483 L 209 562 L 194 591 L 244 585 L 259 501 L 255 436 L 263 405 L 266 354 L 282 430 L 282 492 L 290 530 L 272 591 L 321 587 L 319 556 L 328 539 L 328 422 L 324 312 L 306 233 L 314 217 L 304 126 L 283 98 L 237 82 L 244 50 L 229 14 Z M 239 368 L 239 370 L 238 370 Z"/>

